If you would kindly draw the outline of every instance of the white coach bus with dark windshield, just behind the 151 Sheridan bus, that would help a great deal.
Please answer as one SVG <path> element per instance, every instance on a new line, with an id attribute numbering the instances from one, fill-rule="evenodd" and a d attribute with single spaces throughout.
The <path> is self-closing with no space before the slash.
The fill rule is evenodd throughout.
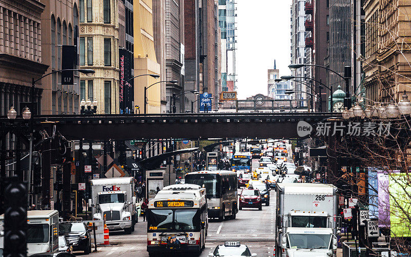
<path id="1" fill-rule="evenodd" d="M 238 212 L 237 173 L 232 171 L 198 171 L 185 174 L 185 182 L 206 187 L 210 218 L 235 219 Z"/>

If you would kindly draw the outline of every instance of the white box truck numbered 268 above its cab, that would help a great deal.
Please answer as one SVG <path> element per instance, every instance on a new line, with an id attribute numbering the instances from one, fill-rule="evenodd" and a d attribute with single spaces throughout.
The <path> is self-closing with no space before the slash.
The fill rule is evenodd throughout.
<path id="1" fill-rule="evenodd" d="M 283 237 L 286 232 L 290 233 L 289 228 L 308 229 L 304 231 L 310 232 L 305 234 L 327 228 L 333 236 L 337 234 L 341 221 L 337 216 L 336 187 L 316 183 L 277 183 L 276 197 L 276 256 L 279 253 L 286 255 L 282 249 Z"/>

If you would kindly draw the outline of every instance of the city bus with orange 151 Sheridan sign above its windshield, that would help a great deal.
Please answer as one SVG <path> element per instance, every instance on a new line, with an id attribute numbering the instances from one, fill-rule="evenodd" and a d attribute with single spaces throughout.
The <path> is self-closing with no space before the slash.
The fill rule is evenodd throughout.
<path id="1" fill-rule="evenodd" d="M 178 184 L 164 187 L 148 202 L 147 252 L 194 252 L 206 245 L 206 189 Z"/>

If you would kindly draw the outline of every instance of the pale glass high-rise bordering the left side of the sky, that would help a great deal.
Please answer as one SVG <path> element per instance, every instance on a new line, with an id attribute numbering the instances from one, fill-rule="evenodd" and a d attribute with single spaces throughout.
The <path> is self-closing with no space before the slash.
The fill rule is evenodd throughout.
<path id="1" fill-rule="evenodd" d="M 218 1 L 218 25 L 221 29 L 221 83 L 222 91 L 236 90 L 235 44 L 236 17 L 234 0 Z"/>

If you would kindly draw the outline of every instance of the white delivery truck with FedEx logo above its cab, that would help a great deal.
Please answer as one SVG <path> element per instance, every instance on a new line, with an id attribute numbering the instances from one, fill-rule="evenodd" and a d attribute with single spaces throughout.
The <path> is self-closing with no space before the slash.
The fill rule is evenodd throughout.
<path id="1" fill-rule="evenodd" d="M 105 216 L 109 230 L 131 234 L 137 223 L 133 177 L 92 179 L 88 205 L 94 220 L 102 221 Z"/>

